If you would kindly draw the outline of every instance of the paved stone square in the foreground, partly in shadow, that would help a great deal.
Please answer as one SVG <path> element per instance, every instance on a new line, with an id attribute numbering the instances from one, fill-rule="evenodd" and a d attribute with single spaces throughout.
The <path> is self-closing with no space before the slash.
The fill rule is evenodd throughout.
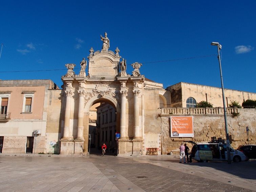
<path id="1" fill-rule="evenodd" d="M 256 161 L 179 164 L 170 155 L 0 154 L 1 192 L 255 191 Z"/>

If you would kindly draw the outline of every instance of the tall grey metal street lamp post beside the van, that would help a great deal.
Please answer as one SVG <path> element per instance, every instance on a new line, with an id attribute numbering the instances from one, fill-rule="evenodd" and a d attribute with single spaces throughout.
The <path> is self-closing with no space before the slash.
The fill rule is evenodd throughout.
<path id="1" fill-rule="evenodd" d="M 217 42 L 212 42 L 211 45 L 215 45 L 215 46 L 218 47 L 219 70 L 220 70 L 220 80 L 221 80 L 223 108 L 224 108 L 224 119 L 225 119 L 225 131 L 226 131 L 226 141 L 227 141 L 227 152 L 228 152 L 227 155 L 228 155 L 228 164 L 231 164 L 231 159 L 230 159 L 230 143 L 229 143 L 229 129 L 228 129 L 228 121 L 227 121 L 227 109 L 226 109 L 225 94 L 224 94 L 224 87 L 223 87 L 223 80 L 222 80 L 220 56 L 219 56 L 219 50 L 221 49 L 221 45 L 219 43 L 217 43 Z"/>

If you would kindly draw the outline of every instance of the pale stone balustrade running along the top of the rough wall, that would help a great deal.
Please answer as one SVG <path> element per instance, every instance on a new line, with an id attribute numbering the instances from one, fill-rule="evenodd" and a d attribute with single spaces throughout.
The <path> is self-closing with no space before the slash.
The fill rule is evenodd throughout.
<path id="1" fill-rule="evenodd" d="M 166 115 L 224 115 L 223 107 L 198 107 L 198 108 L 160 108 L 160 116 Z M 237 107 L 227 107 L 227 115 L 238 113 Z"/>

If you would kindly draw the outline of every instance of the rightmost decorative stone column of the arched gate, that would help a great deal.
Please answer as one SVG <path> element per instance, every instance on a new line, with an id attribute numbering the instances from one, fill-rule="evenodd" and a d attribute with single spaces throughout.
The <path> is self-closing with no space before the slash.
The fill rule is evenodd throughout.
<path id="1" fill-rule="evenodd" d="M 139 122 L 139 94 L 140 90 L 133 90 L 134 94 L 134 113 L 133 113 L 133 121 L 134 121 L 134 134 L 133 139 L 140 138 L 140 122 Z"/>

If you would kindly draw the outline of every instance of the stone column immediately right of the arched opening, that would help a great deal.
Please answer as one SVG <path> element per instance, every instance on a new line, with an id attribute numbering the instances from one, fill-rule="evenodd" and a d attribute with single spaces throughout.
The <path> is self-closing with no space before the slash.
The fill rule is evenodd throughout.
<path id="1" fill-rule="evenodd" d="M 126 134 L 126 96 L 127 90 L 120 90 L 121 93 L 121 114 L 120 114 L 120 139 L 126 139 L 128 135 Z"/>

